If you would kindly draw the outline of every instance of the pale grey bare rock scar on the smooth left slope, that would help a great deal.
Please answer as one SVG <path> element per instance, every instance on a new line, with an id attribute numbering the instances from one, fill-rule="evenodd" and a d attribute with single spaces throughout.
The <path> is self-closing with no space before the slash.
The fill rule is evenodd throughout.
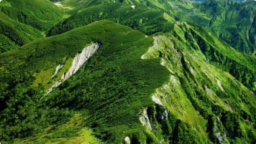
<path id="1" fill-rule="evenodd" d="M 76 57 L 73 59 L 72 65 L 70 67 L 70 69 L 68 69 L 68 72 L 64 72 L 64 74 L 62 75 L 62 77 L 60 78 L 60 80 L 58 80 L 55 85 L 52 85 L 52 87 L 47 90 L 47 93 L 52 92 L 52 90 L 54 90 L 56 87 L 58 87 L 62 82 L 64 82 L 65 80 L 67 80 L 69 77 L 71 77 L 72 75 L 74 75 L 78 69 L 80 69 L 83 64 L 91 57 L 93 56 L 93 54 L 99 49 L 100 44 L 99 43 L 93 43 L 90 46 L 86 47 L 83 49 L 83 51 L 81 53 L 76 54 Z M 55 70 L 55 74 L 53 75 L 53 77 L 55 75 L 58 74 L 59 69 L 63 67 L 61 65 L 58 65 L 58 67 L 56 67 Z M 42 97 L 43 98 L 43 97 Z M 41 99 L 42 99 L 41 98 Z"/>

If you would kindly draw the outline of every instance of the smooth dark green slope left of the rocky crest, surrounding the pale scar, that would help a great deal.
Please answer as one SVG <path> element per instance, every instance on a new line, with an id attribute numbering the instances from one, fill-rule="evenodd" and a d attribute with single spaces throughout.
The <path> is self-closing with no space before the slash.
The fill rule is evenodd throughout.
<path id="1" fill-rule="evenodd" d="M 35 81 L 40 77 L 50 79 L 58 64 L 70 67 L 70 59 L 72 62 L 73 57 L 92 42 L 101 43 L 101 47 L 90 61 L 70 80 L 40 100 L 47 85 L 52 85 L 55 80 L 41 81 L 40 84 Z M 98 117 L 96 123 L 102 125 L 97 124 L 97 131 L 118 130 L 113 131 L 116 136 L 109 140 L 111 142 L 122 138 L 121 131 L 129 127 L 134 132 L 144 133 L 137 113 L 153 104 L 150 94 L 168 79 L 168 70 L 160 65 L 160 59 L 140 59 L 150 45 L 152 37 L 147 38 L 145 34 L 111 21 L 99 21 L 1 54 L 1 123 L 4 124 L 1 139 L 12 140 L 40 133 L 50 125 L 66 123 L 74 112 L 88 117 L 87 123 L 79 128 L 95 127 L 93 121 Z M 81 77 L 80 80 L 77 77 Z M 84 95 L 62 96 L 60 91 L 75 92 L 70 82 L 77 88 L 81 85 L 78 93 L 83 91 Z M 93 97 L 96 99 L 89 100 Z M 73 133 L 81 129 L 76 130 Z"/>

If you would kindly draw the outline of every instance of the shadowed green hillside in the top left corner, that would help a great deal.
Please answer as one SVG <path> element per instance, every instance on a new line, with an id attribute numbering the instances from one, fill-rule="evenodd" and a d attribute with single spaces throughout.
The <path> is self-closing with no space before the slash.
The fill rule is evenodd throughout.
<path id="1" fill-rule="evenodd" d="M 0 2 L 0 52 L 44 37 L 44 32 L 63 19 L 63 10 L 50 1 Z"/>

